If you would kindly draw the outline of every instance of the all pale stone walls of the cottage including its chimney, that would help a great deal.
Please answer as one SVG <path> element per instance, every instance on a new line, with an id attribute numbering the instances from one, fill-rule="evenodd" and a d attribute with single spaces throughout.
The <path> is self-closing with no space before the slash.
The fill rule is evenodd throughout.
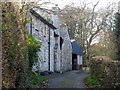
<path id="1" fill-rule="evenodd" d="M 63 30 L 64 43 L 60 50 L 60 18 L 59 8 L 55 7 L 55 13 L 52 16 L 53 25 L 57 29 L 51 29 L 36 17 L 32 17 L 32 36 L 41 42 L 41 48 L 38 52 L 39 60 L 33 65 L 32 71 L 46 71 L 49 69 L 49 30 L 50 30 L 50 71 L 66 71 L 72 69 L 72 46 L 67 30 Z M 30 18 L 31 19 L 31 18 Z M 31 24 L 28 24 L 28 33 L 30 34 Z M 58 36 L 54 36 L 56 33 Z M 57 45 L 57 48 L 56 48 Z"/>

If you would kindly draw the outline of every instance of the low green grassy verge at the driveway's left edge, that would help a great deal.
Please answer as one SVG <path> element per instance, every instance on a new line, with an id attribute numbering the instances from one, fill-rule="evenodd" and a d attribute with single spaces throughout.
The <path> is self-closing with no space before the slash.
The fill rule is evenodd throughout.
<path id="1" fill-rule="evenodd" d="M 33 72 L 29 72 L 29 76 L 30 83 L 28 85 L 28 88 L 41 88 L 42 85 L 44 84 L 44 81 L 47 80 L 47 78 L 36 75 Z"/>

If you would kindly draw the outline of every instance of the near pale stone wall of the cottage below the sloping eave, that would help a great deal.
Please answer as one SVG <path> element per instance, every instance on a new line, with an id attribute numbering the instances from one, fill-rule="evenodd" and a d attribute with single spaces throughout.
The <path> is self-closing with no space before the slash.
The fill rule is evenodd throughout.
<path id="1" fill-rule="evenodd" d="M 30 27 L 30 24 L 27 25 Z M 53 47 L 54 47 L 54 31 L 53 29 L 49 29 L 47 25 L 45 25 L 43 22 L 41 22 L 36 17 L 32 16 L 32 36 L 34 36 L 37 41 L 41 42 L 41 48 L 38 52 L 39 60 L 37 63 L 33 65 L 32 71 L 47 71 L 48 61 L 49 61 L 49 30 L 50 30 L 50 68 L 51 71 L 53 71 Z M 29 33 L 30 33 L 30 28 Z"/>

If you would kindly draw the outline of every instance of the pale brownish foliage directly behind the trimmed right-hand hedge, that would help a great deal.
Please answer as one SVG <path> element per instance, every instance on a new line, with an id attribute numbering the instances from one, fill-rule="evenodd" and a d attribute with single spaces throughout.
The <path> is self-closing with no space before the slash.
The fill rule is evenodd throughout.
<path id="1" fill-rule="evenodd" d="M 107 56 L 111 59 L 116 59 L 117 49 L 116 44 L 113 42 L 113 40 L 115 40 L 114 35 L 112 34 L 107 35 L 101 37 L 99 43 L 91 45 L 90 47 L 91 57 Z"/>

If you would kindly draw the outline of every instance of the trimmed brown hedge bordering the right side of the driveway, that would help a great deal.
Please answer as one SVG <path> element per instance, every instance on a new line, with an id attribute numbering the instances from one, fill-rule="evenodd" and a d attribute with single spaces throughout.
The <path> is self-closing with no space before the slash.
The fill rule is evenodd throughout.
<path id="1" fill-rule="evenodd" d="M 94 57 L 90 70 L 101 87 L 120 88 L 120 62 L 112 61 L 107 57 Z"/>

